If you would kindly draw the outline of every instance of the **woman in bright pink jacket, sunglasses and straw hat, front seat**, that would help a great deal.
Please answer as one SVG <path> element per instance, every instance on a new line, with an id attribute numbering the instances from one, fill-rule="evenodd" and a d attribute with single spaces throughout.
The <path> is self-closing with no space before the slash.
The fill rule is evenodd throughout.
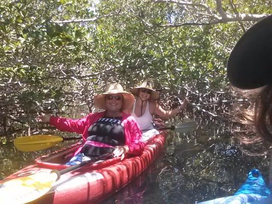
<path id="1" fill-rule="evenodd" d="M 94 104 L 105 111 L 91 113 L 81 119 L 67 119 L 41 114 L 38 121 L 50 123 L 60 131 L 82 134 L 84 145 L 75 152 L 68 164 L 113 151 L 114 157 L 140 155 L 144 148 L 142 134 L 135 119 L 122 110 L 130 109 L 134 96 L 123 91 L 120 84 L 107 86 L 106 92 L 94 96 Z M 80 159 L 79 159 L 80 158 Z M 77 161 L 76 163 L 73 161 Z"/>

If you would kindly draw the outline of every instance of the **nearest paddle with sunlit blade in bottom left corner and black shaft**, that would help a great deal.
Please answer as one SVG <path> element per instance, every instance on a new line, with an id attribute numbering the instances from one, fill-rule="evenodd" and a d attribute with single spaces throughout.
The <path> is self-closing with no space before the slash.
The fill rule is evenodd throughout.
<path id="1" fill-rule="evenodd" d="M 63 170 L 52 170 L 51 173 L 39 171 L 32 175 L 18 177 L 0 183 L 0 203 L 27 203 L 46 194 L 59 180 L 60 176 L 84 165 L 109 158 L 112 153 L 101 155 Z"/>

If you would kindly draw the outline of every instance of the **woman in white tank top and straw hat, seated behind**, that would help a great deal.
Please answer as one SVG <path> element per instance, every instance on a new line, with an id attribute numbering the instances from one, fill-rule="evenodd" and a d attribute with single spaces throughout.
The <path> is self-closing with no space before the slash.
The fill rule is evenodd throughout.
<path id="1" fill-rule="evenodd" d="M 159 98 L 159 93 L 153 89 L 152 80 L 144 80 L 140 86 L 131 89 L 131 92 L 136 95 L 136 99 L 130 114 L 135 117 L 141 130 L 150 130 L 154 126 L 152 124 L 153 115 L 158 115 L 161 118 L 168 118 L 174 116 L 185 109 L 187 101 L 184 100 L 183 104 L 173 110 L 165 111 L 154 100 Z"/>

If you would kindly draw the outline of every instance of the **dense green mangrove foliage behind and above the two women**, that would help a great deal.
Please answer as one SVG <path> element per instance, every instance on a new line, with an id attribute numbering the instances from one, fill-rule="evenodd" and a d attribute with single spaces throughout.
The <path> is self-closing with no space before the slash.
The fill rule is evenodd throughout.
<path id="1" fill-rule="evenodd" d="M 129 89 L 153 78 L 157 89 L 173 94 L 222 90 L 230 50 L 243 32 L 238 22 L 168 27 L 196 21 L 203 10 L 150 0 L 1 3 L 2 126 L 13 124 L 4 118 L 17 118 L 14 110 L 64 114 L 86 105 L 91 111 L 93 95 L 112 81 Z M 265 0 L 233 3 L 238 12 L 271 13 Z M 218 15 L 215 1 L 206 5 Z M 230 1 L 222 7 L 236 12 Z"/>

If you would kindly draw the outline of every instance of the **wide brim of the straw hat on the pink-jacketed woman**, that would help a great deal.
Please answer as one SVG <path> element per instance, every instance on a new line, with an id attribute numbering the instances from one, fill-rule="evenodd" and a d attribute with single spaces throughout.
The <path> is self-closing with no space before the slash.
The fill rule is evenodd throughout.
<path id="1" fill-rule="evenodd" d="M 117 93 L 120 93 L 123 96 L 122 110 L 130 110 L 134 104 L 135 97 L 131 93 L 126 91 L 123 91 L 123 92 L 112 91 L 112 92 L 105 92 L 102 94 L 95 95 L 93 97 L 94 105 L 97 108 L 107 110 L 106 95 L 117 94 Z"/>

